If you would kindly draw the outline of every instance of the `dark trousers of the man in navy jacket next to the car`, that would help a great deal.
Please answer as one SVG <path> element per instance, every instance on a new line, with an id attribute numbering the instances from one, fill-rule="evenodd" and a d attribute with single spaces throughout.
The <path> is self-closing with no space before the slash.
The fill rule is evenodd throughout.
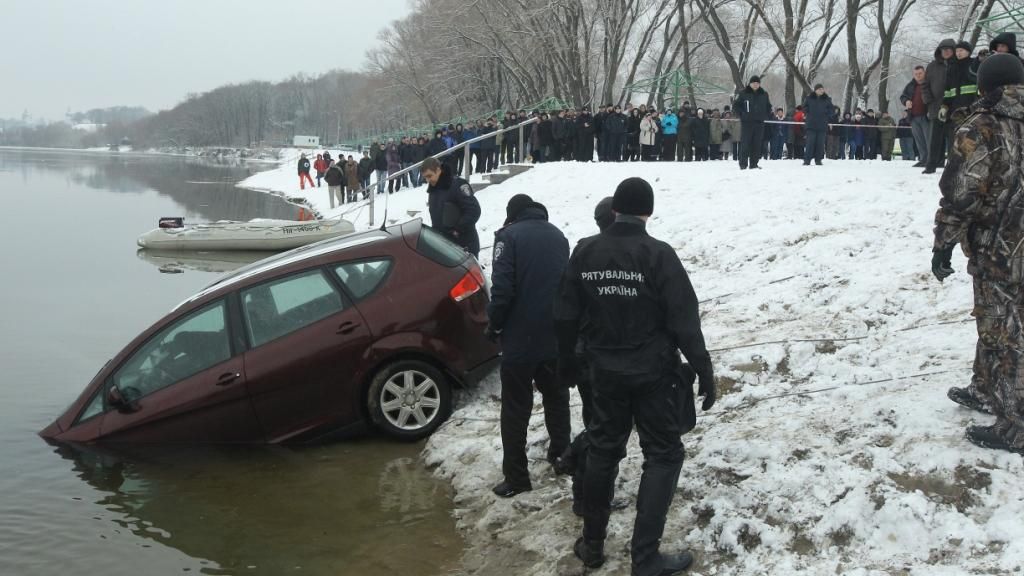
<path id="1" fill-rule="evenodd" d="M 526 431 L 534 411 L 534 386 L 544 398 L 544 423 L 548 427 L 548 459 L 561 456 L 569 445 L 569 393 L 558 381 L 555 361 L 502 362 L 502 471 L 509 484 L 529 488 Z"/>

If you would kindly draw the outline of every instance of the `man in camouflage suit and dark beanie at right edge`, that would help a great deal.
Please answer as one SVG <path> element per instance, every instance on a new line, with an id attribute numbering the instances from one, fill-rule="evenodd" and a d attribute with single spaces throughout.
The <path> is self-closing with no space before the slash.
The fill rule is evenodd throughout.
<path id="1" fill-rule="evenodd" d="M 940 281 L 952 274 L 959 243 L 974 277 L 974 377 L 949 398 L 996 420 L 970 426 L 968 440 L 1024 454 L 1024 66 L 990 56 L 978 85 L 983 97 L 957 129 L 939 182 L 932 272 Z"/>

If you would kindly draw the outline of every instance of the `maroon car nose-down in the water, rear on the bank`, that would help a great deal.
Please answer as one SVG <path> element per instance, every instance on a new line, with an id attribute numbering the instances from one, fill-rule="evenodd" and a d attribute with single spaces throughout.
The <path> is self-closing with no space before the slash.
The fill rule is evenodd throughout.
<path id="1" fill-rule="evenodd" d="M 260 260 L 109 361 L 40 434 L 67 442 L 423 438 L 498 361 L 476 260 L 422 221 Z"/>

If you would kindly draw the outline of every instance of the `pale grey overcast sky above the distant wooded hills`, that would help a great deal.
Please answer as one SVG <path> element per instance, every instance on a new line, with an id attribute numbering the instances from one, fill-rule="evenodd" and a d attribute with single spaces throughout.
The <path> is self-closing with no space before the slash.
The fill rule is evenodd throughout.
<path id="1" fill-rule="evenodd" d="M 0 0 L 0 118 L 358 70 L 408 0 Z"/>

